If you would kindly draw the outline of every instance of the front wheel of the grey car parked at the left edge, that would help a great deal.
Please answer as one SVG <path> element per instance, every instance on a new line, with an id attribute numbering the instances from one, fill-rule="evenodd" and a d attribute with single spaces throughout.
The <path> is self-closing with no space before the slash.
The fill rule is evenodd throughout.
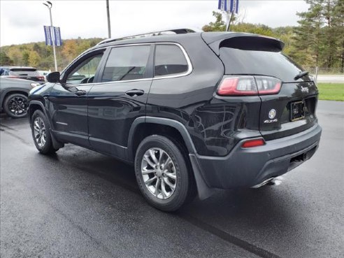
<path id="1" fill-rule="evenodd" d="M 3 110 L 9 117 L 24 117 L 27 115 L 27 96 L 20 93 L 6 96 L 5 101 L 3 101 Z"/>

